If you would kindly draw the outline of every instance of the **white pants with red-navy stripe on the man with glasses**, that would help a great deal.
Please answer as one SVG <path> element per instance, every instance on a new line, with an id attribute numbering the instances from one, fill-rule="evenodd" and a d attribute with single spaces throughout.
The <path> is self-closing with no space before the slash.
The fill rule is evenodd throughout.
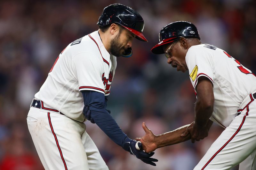
<path id="1" fill-rule="evenodd" d="M 194 170 L 226 170 L 239 163 L 239 170 L 255 170 L 255 154 L 256 99 L 250 94 Z"/>

